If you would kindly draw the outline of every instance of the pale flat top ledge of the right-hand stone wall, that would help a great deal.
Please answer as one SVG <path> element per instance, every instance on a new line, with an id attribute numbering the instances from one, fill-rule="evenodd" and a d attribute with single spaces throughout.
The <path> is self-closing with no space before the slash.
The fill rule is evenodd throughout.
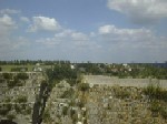
<path id="1" fill-rule="evenodd" d="M 148 84 L 159 84 L 161 87 L 167 89 L 167 80 L 157 80 L 157 79 L 118 79 L 114 76 L 105 75 L 85 75 L 84 82 L 89 84 L 99 84 L 99 85 L 116 85 L 120 86 L 136 86 L 136 87 L 146 87 Z"/>

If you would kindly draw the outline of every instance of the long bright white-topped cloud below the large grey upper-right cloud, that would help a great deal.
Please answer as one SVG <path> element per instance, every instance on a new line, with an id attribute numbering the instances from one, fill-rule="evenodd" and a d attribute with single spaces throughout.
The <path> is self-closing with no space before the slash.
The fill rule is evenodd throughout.
<path id="1" fill-rule="evenodd" d="M 99 34 L 104 41 L 109 42 L 147 42 L 154 38 L 150 30 L 147 29 L 119 29 L 115 25 L 102 25 L 99 28 Z"/>

